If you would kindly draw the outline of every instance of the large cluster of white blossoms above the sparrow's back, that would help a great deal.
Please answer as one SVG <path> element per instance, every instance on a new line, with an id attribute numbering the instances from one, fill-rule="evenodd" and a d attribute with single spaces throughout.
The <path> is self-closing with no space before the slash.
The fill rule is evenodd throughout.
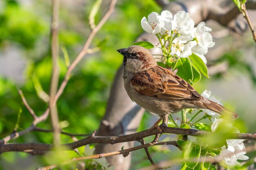
<path id="1" fill-rule="evenodd" d="M 163 52 L 167 51 L 174 57 L 189 57 L 193 52 L 206 63 L 204 55 L 214 45 L 209 33 L 211 28 L 205 26 L 204 22 L 194 27 L 195 22 L 184 11 L 179 11 L 174 16 L 170 11 L 162 11 L 161 15 L 152 12 L 148 18 L 142 18 L 141 26 L 147 33 L 159 37 L 162 48 L 168 39 L 169 45 Z"/>

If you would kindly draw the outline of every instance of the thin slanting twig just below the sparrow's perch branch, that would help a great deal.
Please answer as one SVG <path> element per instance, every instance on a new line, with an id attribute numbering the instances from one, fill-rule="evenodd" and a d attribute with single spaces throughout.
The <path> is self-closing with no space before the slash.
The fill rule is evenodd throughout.
<path id="1" fill-rule="evenodd" d="M 148 144 L 144 144 L 141 146 L 135 146 L 133 148 L 119 150 L 119 151 L 113 151 L 113 152 L 109 152 L 109 153 L 101 153 L 101 154 L 85 156 L 85 157 L 75 157 L 68 161 L 63 162 L 62 165 L 66 165 L 66 164 L 77 162 L 77 161 L 84 161 L 84 160 L 88 160 L 88 159 L 99 159 L 99 158 L 109 157 L 109 156 L 113 156 L 113 155 L 127 155 L 128 153 L 130 153 L 134 150 L 139 150 L 141 148 L 148 148 L 150 146 L 155 146 L 155 145 L 175 145 L 175 146 L 177 146 L 177 142 L 176 141 L 168 141 L 168 142 L 148 143 Z M 52 170 L 53 168 L 56 168 L 57 166 L 58 166 L 57 164 L 53 164 L 50 166 L 37 168 L 37 170 Z"/>

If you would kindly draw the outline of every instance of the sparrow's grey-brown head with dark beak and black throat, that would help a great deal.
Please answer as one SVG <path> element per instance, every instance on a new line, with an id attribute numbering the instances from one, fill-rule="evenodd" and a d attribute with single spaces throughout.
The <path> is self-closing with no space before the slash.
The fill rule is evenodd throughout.
<path id="1" fill-rule="evenodd" d="M 124 69 L 130 72 L 142 72 L 157 65 L 149 50 L 141 46 L 130 46 L 117 50 L 124 56 Z"/>

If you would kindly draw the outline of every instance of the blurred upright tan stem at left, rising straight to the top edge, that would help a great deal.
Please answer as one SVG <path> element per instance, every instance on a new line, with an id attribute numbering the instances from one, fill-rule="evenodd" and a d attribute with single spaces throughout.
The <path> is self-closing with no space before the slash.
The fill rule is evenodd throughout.
<path id="1" fill-rule="evenodd" d="M 51 111 L 52 129 L 54 131 L 54 145 L 58 146 L 60 143 L 59 124 L 58 124 L 58 111 L 54 105 L 54 98 L 58 89 L 59 79 L 59 66 L 58 66 L 58 13 L 59 13 L 59 0 L 52 1 L 52 78 L 50 85 L 50 98 L 49 107 Z"/>

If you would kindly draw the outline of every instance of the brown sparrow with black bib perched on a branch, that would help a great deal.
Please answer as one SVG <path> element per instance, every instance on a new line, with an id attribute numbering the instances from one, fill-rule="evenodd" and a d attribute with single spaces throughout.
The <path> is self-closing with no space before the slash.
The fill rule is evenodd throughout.
<path id="1" fill-rule="evenodd" d="M 209 109 L 230 119 L 238 114 L 202 97 L 180 76 L 157 65 L 149 50 L 130 46 L 117 50 L 124 56 L 124 87 L 130 99 L 160 119 L 149 129 L 161 130 L 158 123 L 164 116 L 182 109 Z"/>

